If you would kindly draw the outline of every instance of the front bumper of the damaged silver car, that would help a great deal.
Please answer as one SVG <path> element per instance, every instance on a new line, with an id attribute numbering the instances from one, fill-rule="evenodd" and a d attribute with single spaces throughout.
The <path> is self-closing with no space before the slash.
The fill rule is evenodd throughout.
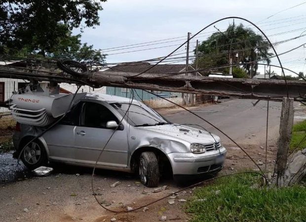
<path id="1" fill-rule="evenodd" d="M 200 176 L 220 171 L 223 168 L 227 150 L 221 147 L 219 150 L 208 151 L 202 154 L 194 153 L 170 153 L 174 177 L 179 175 Z"/>

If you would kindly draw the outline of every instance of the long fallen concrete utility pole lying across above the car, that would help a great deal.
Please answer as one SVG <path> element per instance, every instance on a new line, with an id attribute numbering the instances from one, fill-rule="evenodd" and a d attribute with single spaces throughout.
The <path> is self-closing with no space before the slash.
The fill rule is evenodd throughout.
<path id="1" fill-rule="evenodd" d="M 196 77 L 185 76 L 184 73 L 180 75 L 172 74 L 172 76 L 146 73 L 133 78 L 134 75 L 136 74 L 98 71 L 91 72 L 86 76 L 73 77 L 67 74 L 63 75 L 59 70 L 0 66 L 0 77 L 2 78 L 49 80 L 57 83 L 89 85 L 94 88 L 109 86 L 278 101 L 287 96 L 287 87 L 284 80 Z M 290 97 L 295 99 L 306 97 L 305 81 L 287 81 L 287 85 Z"/>

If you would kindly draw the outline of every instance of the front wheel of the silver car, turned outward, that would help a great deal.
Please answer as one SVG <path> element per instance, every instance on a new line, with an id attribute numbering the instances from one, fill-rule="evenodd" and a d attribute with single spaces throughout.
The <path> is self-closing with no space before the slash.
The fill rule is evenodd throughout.
<path id="1" fill-rule="evenodd" d="M 143 152 L 139 157 L 139 178 L 142 184 L 156 187 L 159 182 L 159 167 L 155 153 Z"/>

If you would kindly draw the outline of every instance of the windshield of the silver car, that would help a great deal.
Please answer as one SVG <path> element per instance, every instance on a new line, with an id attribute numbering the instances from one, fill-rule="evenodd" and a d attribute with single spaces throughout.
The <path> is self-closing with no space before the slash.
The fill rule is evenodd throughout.
<path id="1" fill-rule="evenodd" d="M 113 103 L 113 107 L 122 115 L 126 113 L 124 119 L 134 127 L 146 127 L 169 124 L 169 122 L 156 111 L 145 104 Z M 129 108 L 130 106 L 130 108 Z"/>

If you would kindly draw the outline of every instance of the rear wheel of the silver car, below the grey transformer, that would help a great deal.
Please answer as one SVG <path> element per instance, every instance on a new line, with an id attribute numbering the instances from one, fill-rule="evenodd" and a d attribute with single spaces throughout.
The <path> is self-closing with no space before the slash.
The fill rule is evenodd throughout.
<path id="1" fill-rule="evenodd" d="M 30 140 L 26 140 L 19 147 L 20 151 L 22 151 L 21 160 L 23 164 L 29 170 L 34 170 L 40 166 L 46 166 L 48 164 L 48 157 L 41 142 L 36 139 L 24 148 L 29 141 Z"/>

